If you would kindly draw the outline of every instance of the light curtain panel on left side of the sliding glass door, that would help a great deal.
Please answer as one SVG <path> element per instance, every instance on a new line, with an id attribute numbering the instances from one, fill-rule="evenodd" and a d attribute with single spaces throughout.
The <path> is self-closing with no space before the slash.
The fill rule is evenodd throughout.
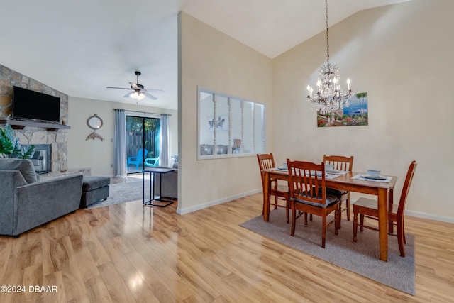
<path id="1" fill-rule="evenodd" d="M 114 176 L 126 177 L 126 114 L 124 109 L 115 110 Z"/>

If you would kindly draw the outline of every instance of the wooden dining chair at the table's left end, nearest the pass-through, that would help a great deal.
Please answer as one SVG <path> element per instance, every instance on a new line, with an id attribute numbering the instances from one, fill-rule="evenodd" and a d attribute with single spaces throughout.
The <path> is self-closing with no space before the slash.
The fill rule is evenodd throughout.
<path id="1" fill-rule="evenodd" d="M 272 153 L 265 153 L 257 154 L 257 160 L 258 167 L 260 169 L 260 175 L 262 176 L 262 188 L 265 189 L 265 182 L 267 182 L 267 180 L 265 180 L 265 176 L 262 170 L 275 168 L 275 159 L 273 158 Z M 287 223 L 289 223 L 289 187 L 283 184 L 278 184 L 277 180 L 270 180 L 270 182 L 270 195 L 275 196 L 275 209 L 277 209 L 278 206 L 285 207 L 285 212 L 287 214 Z M 284 200 L 285 204 L 278 204 L 278 200 Z M 263 206 L 265 207 L 265 205 Z M 265 211 L 265 209 L 263 211 Z"/>

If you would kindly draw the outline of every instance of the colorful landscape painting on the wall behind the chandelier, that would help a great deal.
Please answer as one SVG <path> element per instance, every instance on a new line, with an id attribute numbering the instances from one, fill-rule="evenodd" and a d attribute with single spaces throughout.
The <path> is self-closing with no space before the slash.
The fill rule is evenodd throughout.
<path id="1" fill-rule="evenodd" d="M 367 92 L 352 94 L 350 105 L 331 113 L 317 111 L 317 127 L 367 125 Z"/>

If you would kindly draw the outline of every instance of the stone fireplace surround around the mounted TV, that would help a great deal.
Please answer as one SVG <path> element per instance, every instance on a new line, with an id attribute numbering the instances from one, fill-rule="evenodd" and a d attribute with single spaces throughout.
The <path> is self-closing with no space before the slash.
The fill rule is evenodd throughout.
<path id="1" fill-rule="evenodd" d="M 49 164 L 51 172 L 66 171 L 67 130 L 70 128 L 67 126 L 68 95 L 0 65 L 0 121 L 4 121 L 4 123 L 9 123 L 8 118 L 12 114 L 14 85 L 60 97 L 60 126 L 52 126 L 52 124 L 48 126 L 45 123 L 26 123 L 23 126 L 12 126 L 16 136 L 21 140 L 21 145 L 50 145 Z"/>

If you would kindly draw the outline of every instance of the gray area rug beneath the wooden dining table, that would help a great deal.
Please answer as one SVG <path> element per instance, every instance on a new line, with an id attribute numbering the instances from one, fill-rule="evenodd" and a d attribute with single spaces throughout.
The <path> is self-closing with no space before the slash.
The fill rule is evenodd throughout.
<path id="1" fill-rule="evenodd" d="M 399 255 L 397 238 L 389 236 L 388 261 L 383 262 L 379 259 L 378 232 L 365 228 L 361 233 L 358 228 L 358 242 L 353 243 L 353 221 L 343 219 L 342 228 L 337 236 L 334 235 L 334 226 L 329 227 L 326 230 L 324 249 L 321 248 L 321 217 L 319 216 L 314 216 L 314 220 L 309 221 L 306 227 L 303 217 L 297 219 L 294 237 L 290 236 L 291 224 L 286 222 L 284 209 L 270 211 L 268 222 L 263 221 L 263 216 L 257 216 L 240 226 L 402 292 L 415 294 L 414 236 L 412 235 L 405 235 L 405 258 Z"/>

